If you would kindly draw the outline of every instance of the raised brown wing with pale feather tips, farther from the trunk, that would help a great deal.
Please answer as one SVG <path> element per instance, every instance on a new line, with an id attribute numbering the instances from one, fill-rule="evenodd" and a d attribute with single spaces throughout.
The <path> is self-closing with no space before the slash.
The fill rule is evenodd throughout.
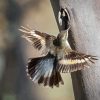
<path id="1" fill-rule="evenodd" d="M 49 51 L 49 44 L 56 38 L 53 35 L 49 35 L 47 33 L 39 32 L 36 30 L 31 30 L 24 26 L 21 26 L 19 30 L 23 32 L 23 38 L 30 42 L 35 49 L 37 49 L 38 51 L 42 51 L 42 53 L 45 55 L 47 55 Z"/>

